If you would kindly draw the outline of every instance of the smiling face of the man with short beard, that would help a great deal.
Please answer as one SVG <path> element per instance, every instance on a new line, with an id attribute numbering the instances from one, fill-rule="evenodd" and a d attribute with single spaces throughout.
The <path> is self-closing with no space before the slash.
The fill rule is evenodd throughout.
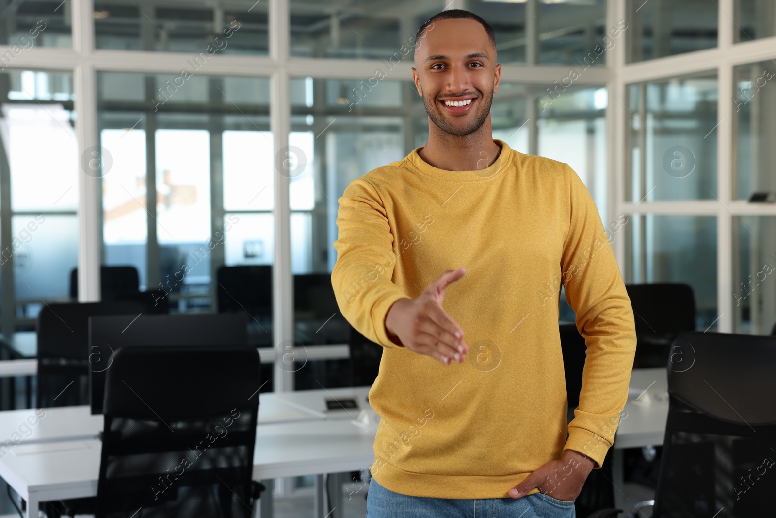
<path id="1" fill-rule="evenodd" d="M 498 92 L 501 65 L 485 28 L 473 19 L 437 20 L 415 48 L 412 69 L 431 122 L 462 137 L 480 128 Z M 464 106 L 450 106 L 464 103 Z"/>

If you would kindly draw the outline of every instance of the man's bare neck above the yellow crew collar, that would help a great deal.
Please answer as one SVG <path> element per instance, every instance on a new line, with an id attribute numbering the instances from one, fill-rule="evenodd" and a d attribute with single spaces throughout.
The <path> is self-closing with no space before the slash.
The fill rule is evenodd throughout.
<path id="1" fill-rule="evenodd" d="M 430 122 L 430 121 L 429 121 Z M 490 124 L 483 124 L 464 137 L 451 135 L 429 124 L 428 141 L 418 155 L 437 169 L 474 171 L 496 162 L 501 146 L 493 140 Z"/>

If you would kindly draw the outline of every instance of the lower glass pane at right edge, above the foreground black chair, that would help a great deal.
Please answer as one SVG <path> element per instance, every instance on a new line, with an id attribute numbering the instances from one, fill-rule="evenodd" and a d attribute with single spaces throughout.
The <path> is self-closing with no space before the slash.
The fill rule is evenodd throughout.
<path id="1" fill-rule="evenodd" d="M 733 221 L 733 332 L 770 335 L 776 325 L 776 217 Z"/>

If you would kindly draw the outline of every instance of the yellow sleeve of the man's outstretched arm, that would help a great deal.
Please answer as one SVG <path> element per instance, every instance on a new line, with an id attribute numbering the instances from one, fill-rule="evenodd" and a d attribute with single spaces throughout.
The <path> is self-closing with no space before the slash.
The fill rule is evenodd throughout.
<path id="1" fill-rule="evenodd" d="M 409 297 L 391 281 L 397 258 L 385 207 L 363 178 L 355 179 L 338 201 L 337 262 L 331 271 L 337 304 L 366 338 L 398 347 L 386 334 L 385 318 L 394 302 Z"/>

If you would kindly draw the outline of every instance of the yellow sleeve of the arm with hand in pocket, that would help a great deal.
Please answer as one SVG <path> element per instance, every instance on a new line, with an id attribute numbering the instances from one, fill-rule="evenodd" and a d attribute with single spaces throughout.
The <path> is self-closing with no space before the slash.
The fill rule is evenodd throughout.
<path id="1" fill-rule="evenodd" d="M 566 301 L 577 315 L 587 360 L 579 407 L 563 449 L 591 457 L 600 468 L 628 398 L 636 327 L 598 209 L 577 173 L 568 165 L 566 169 L 571 214 L 561 268 Z"/>

